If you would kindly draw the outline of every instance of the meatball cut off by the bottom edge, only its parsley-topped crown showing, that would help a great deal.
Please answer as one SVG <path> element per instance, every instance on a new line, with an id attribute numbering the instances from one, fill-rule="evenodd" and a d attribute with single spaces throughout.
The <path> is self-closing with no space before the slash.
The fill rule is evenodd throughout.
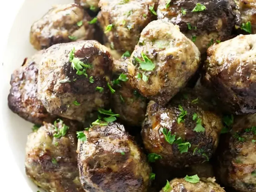
<path id="1" fill-rule="evenodd" d="M 215 183 L 215 178 L 200 178 L 198 183 L 190 183 L 185 179 L 173 179 L 169 182 L 170 192 L 225 192 L 225 190 Z M 164 188 L 160 192 L 167 192 Z"/>

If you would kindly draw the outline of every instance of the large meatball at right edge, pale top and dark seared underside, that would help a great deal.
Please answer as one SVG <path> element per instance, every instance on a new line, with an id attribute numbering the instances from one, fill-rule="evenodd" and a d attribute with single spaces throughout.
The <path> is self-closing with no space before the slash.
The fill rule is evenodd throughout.
<path id="1" fill-rule="evenodd" d="M 205 79 L 229 113 L 256 112 L 255 47 L 256 35 L 240 35 L 207 51 Z"/>

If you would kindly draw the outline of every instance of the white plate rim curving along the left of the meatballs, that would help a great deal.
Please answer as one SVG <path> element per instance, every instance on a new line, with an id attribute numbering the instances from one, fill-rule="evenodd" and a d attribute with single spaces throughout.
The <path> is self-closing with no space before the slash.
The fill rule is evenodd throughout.
<path id="1" fill-rule="evenodd" d="M 8 148 L 10 148 L 14 161 L 19 169 L 17 171 L 9 169 L 10 171 L 13 171 L 13 178 L 11 179 L 18 179 L 15 175 L 18 175 L 18 172 L 20 171 L 25 179 L 25 182 L 28 183 L 28 186 L 33 192 L 36 192 L 38 188 L 32 183 L 32 181 L 30 181 L 30 179 L 26 177 L 24 167 L 27 135 L 31 133 L 31 128 L 33 125 L 21 119 L 21 117 L 9 110 L 7 106 L 7 96 L 10 88 L 9 81 L 13 70 L 21 66 L 24 58 L 29 57 L 36 52 L 29 42 L 29 32 L 32 23 L 42 17 L 52 5 L 66 4 L 70 2 L 73 2 L 73 0 L 24 0 L 24 3 L 21 6 L 10 30 L 7 45 L 4 49 L 3 65 L 1 63 L 1 131 L 4 133 L 4 136 L 8 141 L 8 143 L 3 144 L 8 145 Z M 15 3 L 15 1 L 13 3 Z M 8 12 L 11 14 L 11 9 L 8 10 Z M 6 15 L 6 17 L 8 16 Z M 4 148 L 4 146 L 2 147 Z M 1 158 L 4 158 L 4 154 L 1 154 L 3 155 Z M 9 180 L 10 178 L 5 179 Z M 14 181 L 13 184 L 15 185 L 17 183 Z M 9 186 L 8 191 L 13 191 L 11 186 Z M 25 188 L 20 188 L 19 191 L 27 192 L 28 190 Z"/>

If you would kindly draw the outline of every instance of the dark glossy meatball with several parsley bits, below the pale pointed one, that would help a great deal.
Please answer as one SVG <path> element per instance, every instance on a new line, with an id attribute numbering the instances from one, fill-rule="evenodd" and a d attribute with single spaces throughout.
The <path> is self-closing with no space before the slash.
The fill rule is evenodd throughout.
<path id="1" fill-rule="evenodd" d="M 160 155 L 161 164 L 180 168 L 209 161 L 221 129 L 210 104 L 184 93 L 165 107 L 149 102 L 141 134 L 145 148 Z"/>

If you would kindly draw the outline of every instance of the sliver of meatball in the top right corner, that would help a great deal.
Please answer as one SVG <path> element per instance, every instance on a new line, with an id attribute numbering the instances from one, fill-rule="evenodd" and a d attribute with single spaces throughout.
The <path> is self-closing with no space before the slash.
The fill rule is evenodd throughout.
<path id="1" fill-rule="evenodd" d="M 235 0 L 241 13 L 241 24 L 251 23 L 251 33 L 256 33 L 256 2 L 255 0 Z"/>

